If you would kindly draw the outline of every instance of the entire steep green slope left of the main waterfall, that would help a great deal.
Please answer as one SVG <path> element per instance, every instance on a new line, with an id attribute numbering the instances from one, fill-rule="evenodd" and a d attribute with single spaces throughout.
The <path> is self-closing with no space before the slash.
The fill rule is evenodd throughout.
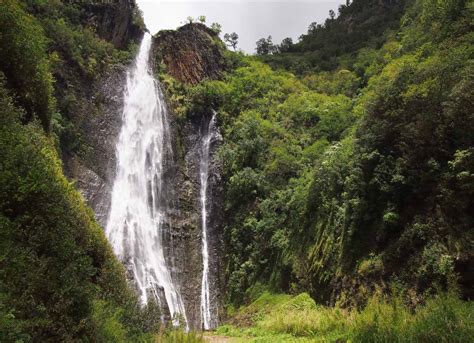
<path id="1" fill-rule="evenodd" d="M 157 319 L 151 308 L 146 314 L 138 306 L 123 267 L 58 157 L 59 146 L 71 152 L 65 132 L 78 129 L 72 120 L 79 110 L 65 104 L 74 99 L 94 107 L 85 84 L 119 53 L 78 21 L 81 6 L 0 3 L 0 340 L 5 342 L 142 341 Z"/>

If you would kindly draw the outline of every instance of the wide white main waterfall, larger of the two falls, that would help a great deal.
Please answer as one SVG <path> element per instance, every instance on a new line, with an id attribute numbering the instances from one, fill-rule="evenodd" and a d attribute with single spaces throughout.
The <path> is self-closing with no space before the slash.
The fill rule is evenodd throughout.
<path id="1" fill-rule="evenodd" d="M 153 297 L 162 309 L 169 309 L 172 318 L 180 316 L 187 326 L 183 301 L 163 252 L 163 169 L 171 143 L 167 109 L 149 66 L 150 47 L 151 36 L 145 34 L 127 75 L 106 234 L 116 255 L 133 273 L 142 303 Z"/>

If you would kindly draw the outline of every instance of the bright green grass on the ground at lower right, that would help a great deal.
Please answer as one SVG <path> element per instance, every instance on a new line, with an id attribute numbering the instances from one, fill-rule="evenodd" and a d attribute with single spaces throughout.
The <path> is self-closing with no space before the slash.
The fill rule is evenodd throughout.
<path id="1" fill-rule="evenodd" d="M 474 342 L 474 303 L 442 294 L 413 310 L 374 296 L 358 311 L 264 293 L 230 323 L 216 334 L 236 342 Z"/>

